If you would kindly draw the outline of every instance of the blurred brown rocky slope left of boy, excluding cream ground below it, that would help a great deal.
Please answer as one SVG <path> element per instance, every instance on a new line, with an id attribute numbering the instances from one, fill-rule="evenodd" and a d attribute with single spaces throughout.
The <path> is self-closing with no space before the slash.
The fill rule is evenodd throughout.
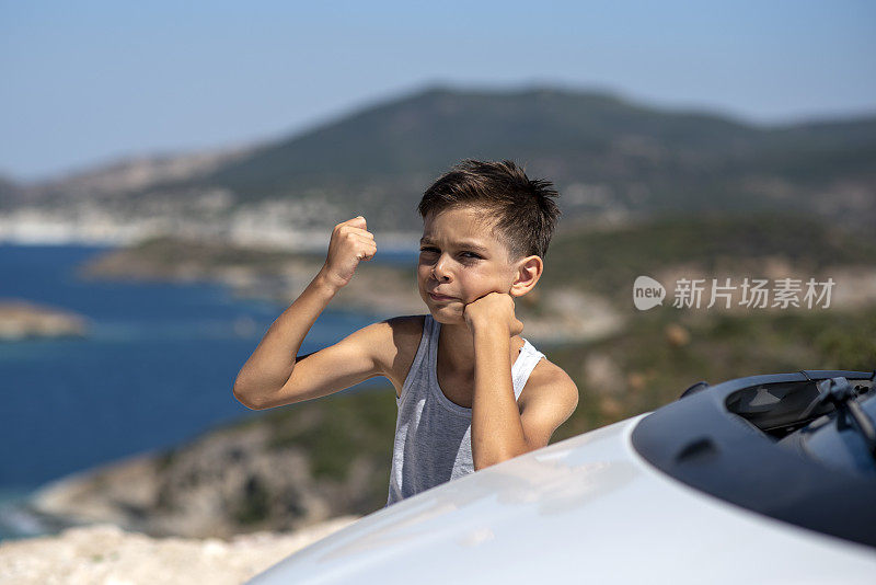
<path id="1" fill-rule="evenodd" d="M 23 511 L 54 530 L 113 524 L 153 538 L 228 539 L 297 531 L 380 505 L 369 500 L 370 487 L 387 481 L 389 456 L 357 454 L 343 479 L 315 475 L 313 454 L 296 440 L 281 445 L 277 433 L 287 424 L 316 424 L 319 413 L 299 408 L 283 414 L 290 418 L 281 424 L 256 417 L 173 449 L 66 475 L 35 491 Z"/>

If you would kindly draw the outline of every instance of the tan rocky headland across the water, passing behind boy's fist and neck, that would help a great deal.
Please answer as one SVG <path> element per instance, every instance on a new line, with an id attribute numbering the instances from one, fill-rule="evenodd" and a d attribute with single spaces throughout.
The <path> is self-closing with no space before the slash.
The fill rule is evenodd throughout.
<path id="1" fill-rule="evenodd" d="M 214 282 L 228 286 L 238 298 L 286 307 L 301 295 L 324 261 L 320 254 L 161 238 L 103 254 L 78 272 L 94 279 Z M 417 291 L 416 266 L 379 262 L 360 263 L 331 307 L 381 318 L 426 311 Z M 624 324 L 608 299 L 570 287 L 537 288 L 518 300 L 517 311 L 525 323 L 523 335 L 545 346 L 600 339 Z"/>

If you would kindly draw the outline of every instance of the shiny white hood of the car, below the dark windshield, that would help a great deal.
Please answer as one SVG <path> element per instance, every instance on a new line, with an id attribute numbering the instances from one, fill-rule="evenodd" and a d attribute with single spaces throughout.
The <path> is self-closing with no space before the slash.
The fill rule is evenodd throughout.
<path id="1" fill-rule="evenodd" d="M 249 583 L 867 583 L 876 552 L 698 492 L 633 450 L 638 420 L 366 516 Z"/>

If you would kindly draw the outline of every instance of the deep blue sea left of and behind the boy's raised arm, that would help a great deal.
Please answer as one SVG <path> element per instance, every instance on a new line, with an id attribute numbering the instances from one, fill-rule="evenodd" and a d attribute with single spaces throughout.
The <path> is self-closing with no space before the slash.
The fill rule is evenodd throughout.
<path id="1" fill-rule="evenodd" d="M 78 265 L 111 251 L 0 244 L 0 300 L 68 309 L 90 323 L 83 337 L 0 342 L 0 540 L 51 534 L 22 508 L 47 482 L 258 415 L 232 395 L 234 378 L 295 299 L 239 298 L 212 283 L 77 277 Z M 381 251 L 372 262 L 413 268 L 416 252 Z M 330 305 L 300 353 L 385 317 Z"/>

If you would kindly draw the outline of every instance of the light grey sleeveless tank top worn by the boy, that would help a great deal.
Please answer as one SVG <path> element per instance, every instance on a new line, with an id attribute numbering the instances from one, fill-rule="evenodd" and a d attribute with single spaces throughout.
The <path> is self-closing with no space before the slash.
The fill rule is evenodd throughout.
<path id="1" fill-rule="evenodd" d="M 425 316 L 414 363 L 395 398 L 395 444 L 387 506 L 450 480 L 474 472 L 472 410 L 460 406 L 438 386 L 438 335 L 441 323 Z M 511 366 L 515 399 L 544 354 L 523 340 Z"/>

